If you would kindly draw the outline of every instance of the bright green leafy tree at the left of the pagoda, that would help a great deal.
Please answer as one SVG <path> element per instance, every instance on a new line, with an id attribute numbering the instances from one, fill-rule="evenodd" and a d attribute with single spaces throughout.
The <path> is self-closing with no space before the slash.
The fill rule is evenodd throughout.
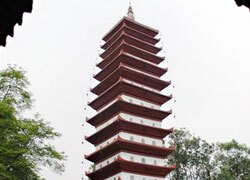
<path id="1" fill-rule="evenodd" d="M 0 179 L 42 179 L 42 166 L 57 173 L 64 171 L 63 152 L 56 151 L 48 140 L 59 137 L 38 115 L 24 118 L 32 107 L 29 82 L 16 66 L 0 71 Z"/>

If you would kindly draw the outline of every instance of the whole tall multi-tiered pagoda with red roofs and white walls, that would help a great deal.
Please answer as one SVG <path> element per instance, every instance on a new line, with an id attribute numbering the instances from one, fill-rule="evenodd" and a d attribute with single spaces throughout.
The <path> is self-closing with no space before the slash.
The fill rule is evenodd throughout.
<path id="1" fill-rule="evenodd" d="M 163 180 L 174 166 L 164 159 L 174 148 L 163 146 L 172 129 L 161 128 L 171 111 L 161 105 L 172 98 L 161 94 L 170 82 L 160 77 L 167 69 L 157 66 L 165 58 L 158 30 L 135 21 L 132 8 L 104 37 L 103 59 L 94 76 L 100 83 L 91 89 L 98 97 L 89 103 L 97 114 L 87 119 L 96 133 L 85 137 L 96 147 L 85 158 L 95 164 L 86 173 L 92 180 Z"/>

